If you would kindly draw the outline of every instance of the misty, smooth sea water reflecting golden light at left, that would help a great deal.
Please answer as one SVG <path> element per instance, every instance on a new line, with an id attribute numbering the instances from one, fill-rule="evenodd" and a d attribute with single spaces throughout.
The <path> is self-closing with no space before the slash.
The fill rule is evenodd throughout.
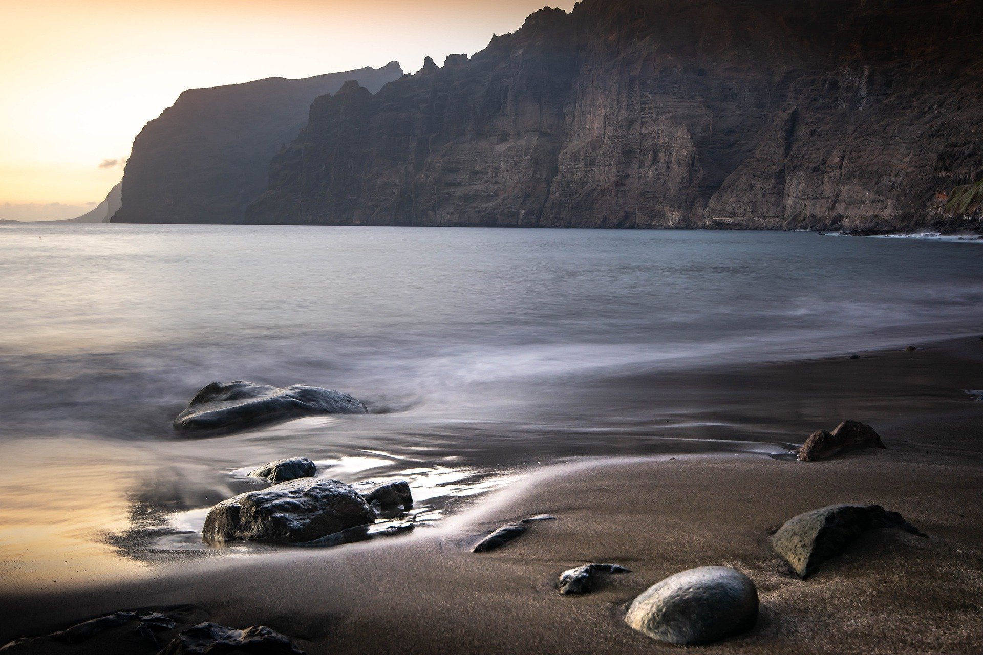
<path id="1" fill-rule="evenodd" d="M 202 548 L 206 509 L 283 457 L 408 477 L 434 519 L 562 458 L 783 452 L 793 426 L 838 408 L 741 375 L 980 330 L 983 247 L 15 225 L 0 227 L 0 306 L 0 573 L 34 584 Z M 373 413 L 172 432 L 202 386 L 234 379 L 339 389 Z"/>

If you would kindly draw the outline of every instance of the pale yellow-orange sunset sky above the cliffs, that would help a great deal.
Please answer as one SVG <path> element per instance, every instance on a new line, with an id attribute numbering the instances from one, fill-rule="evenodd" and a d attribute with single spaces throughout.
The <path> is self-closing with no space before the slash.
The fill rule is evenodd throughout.
<path id="1" fill-rule="evenodd" d="M 474 54 L 544 0 L 0 0 L 0 219 L 71 218 L 186 88 Z M 556 2 L 569 11 L 573 0 Z"/>

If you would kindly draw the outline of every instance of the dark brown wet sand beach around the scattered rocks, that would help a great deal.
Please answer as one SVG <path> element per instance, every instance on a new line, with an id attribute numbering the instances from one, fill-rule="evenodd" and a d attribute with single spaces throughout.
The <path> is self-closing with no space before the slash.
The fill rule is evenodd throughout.
<path id="1" fill-rule="evenodd" d="M 934 360 L 921 356 L 927 367 L 951 367 L 959 386 L 980 381 L 979 349 L 962 340 Z M 880 374 L 867 369 L 872 398 L 878 376 L 890 375 L 900 356 L 883 355 Z M 822 362 L 789 366 L 786 380 L 824 371 Z M 821 378 L 815 386 L 821 395 Z M 983 403 L 927 381 L 925 389 L 935 402 L 896 399 L 894 417 L 877 406 L 880 418 L 871 422 L 887 451 L 809 464 L 729 455 L 545 466 L 408 537 L 186 561 L 63 593 L 7 589 L 0 642 L 112 611 L 194 603 L 223 625 L 275 628 L 308 653 L 677 652 L 627 628 L 626 605 L 668 574 L 726 565 L 758 585 L 761 618 L 751 632 L 701 652 L 979 653 Z M 803 424 L 799 441 L 817 427 L 833 425 Z M 809 579 L 792 577 L 768 546 L 769 529 L 838 502 L 883 505 L 929 537 L 868 533 Z M 557 520 L 533 524 L 492 553 L 469 552 L 501 522 L 541 513 Z M 560 596 L 556 575 L 586 562 L 633 573 L 611 576 L 587 596 Z M 93 641 L 50 652 L 107 647 Z"/>

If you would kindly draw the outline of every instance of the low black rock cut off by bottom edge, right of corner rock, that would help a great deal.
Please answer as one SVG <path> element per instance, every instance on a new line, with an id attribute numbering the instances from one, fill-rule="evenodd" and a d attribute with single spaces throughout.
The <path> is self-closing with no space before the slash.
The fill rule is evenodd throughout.
<path id="1" fill-rule="evenodd" d="M 304 651 L 279 632 L 265 626 L 237 630 L 204 623 L 188 628 L 171 640 L 160 655 L 218 655 L 255 653 L 256 655 L 304 655 Z"/>

